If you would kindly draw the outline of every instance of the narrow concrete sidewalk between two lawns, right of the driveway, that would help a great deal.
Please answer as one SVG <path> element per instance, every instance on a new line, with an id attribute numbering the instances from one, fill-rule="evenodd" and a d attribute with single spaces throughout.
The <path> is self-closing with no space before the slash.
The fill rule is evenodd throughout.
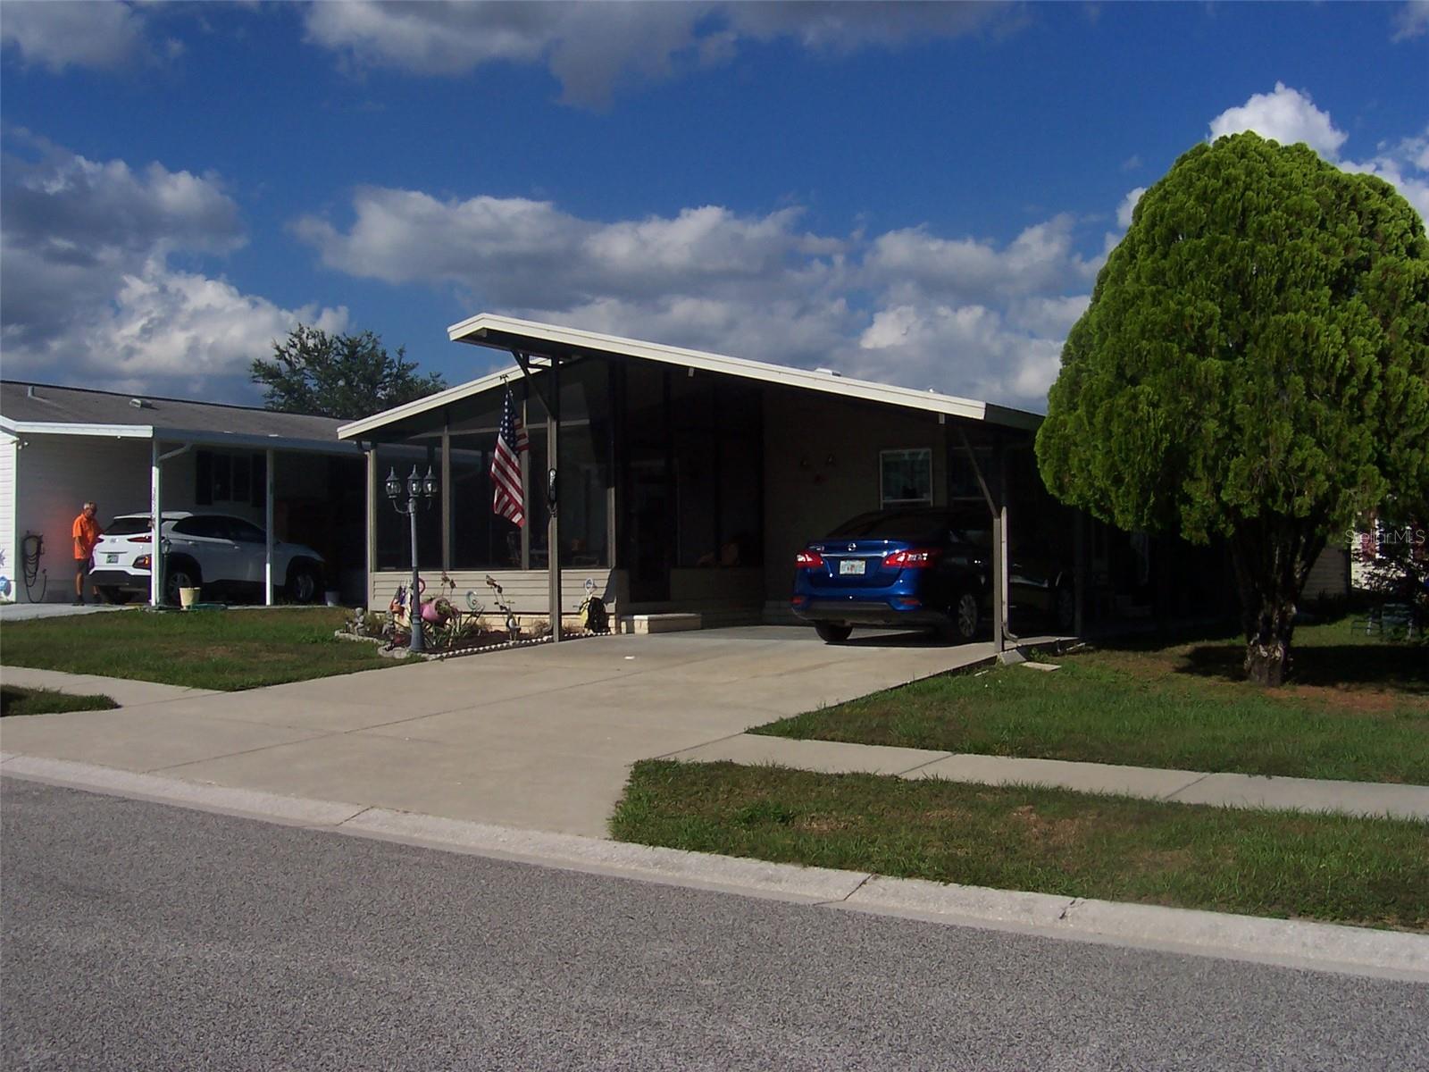
<path id="1" fill-rule="evenodd" d="M 1043 785 L 1083 793 L 1120 793 L 1147 800 L 1270 808 L 1293 812 L 1393 816 L 1429 820 L 1429 786 L 1388 782 L 1336 782 L 1312 778 L 1160 770 L 1145 766 L 1072 763 L 1062 759 L 957 755 L 916 748 L 790 740 L 739 733 L 666 756 L 712 763 L 777 763 L 825 773 L 946 778 L 979 785 Z"/>

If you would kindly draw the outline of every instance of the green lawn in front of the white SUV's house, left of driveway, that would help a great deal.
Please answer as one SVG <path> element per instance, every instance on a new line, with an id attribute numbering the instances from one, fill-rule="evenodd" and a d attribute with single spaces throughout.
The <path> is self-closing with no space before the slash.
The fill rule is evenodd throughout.
<path id="1" fill-rule="evenodd" d="M 330 607 L 120 610 L 11 622 L 0 665 L 234 690 L 402 662 L 377 655 L 376 645 L 334 639 L 343 616 Z"/>

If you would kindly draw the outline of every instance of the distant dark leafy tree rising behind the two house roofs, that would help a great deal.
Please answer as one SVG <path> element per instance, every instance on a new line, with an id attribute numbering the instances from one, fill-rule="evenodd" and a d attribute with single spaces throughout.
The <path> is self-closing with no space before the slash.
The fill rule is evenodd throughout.
<path id="1" fill-rule="evenodd" d="M 272 410 L 366 417 L 446 387 L 439 373 L 417 376 L 416 362 L 404 359 L 404 349 L 389 354 L 372 332 L 329 334 L 299 324 L 274 340 L 273 360 L 253 360 L 253 382 Z"/>

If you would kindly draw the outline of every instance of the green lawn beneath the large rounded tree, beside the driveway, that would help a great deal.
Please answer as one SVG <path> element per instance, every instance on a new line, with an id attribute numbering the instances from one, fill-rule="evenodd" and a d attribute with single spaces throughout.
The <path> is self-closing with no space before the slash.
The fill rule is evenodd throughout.
<path id="1" fill-rule="evenodd" d="M 1102 646 L 916 682 L 753 733 L 946 752 L 1429 785 L 1429 647 L 1348 620 L 1296 632 L 1296 679 L 1240 679 L 1235 637 Z"/>

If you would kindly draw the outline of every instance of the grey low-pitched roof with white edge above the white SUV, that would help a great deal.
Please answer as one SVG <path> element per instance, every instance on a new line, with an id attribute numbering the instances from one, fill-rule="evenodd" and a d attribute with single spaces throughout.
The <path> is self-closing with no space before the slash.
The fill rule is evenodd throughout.
<path id="1" fill-rule="evenodd" d="M 0 380 L 0 429 L 11 435 L 113 436 L 354 453 L 353 443 L 337 439 L 342 423 L 333 417 L 274 413 L 253 406 Z"/>

